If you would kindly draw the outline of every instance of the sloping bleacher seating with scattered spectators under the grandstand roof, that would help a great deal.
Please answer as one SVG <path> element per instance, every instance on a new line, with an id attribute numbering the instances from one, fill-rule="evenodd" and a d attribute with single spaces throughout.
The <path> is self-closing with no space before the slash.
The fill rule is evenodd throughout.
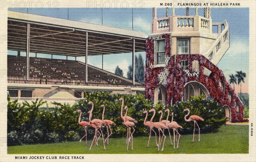
<path id="1" fill-rule="evenodd" d="M 26 57 L 8 55 L 8 81 L 26 82 Z M 79 61 L 29 58 L 29 78 L 35 84 L 85 84 L 85 66 Z M 132 86 L 130 80 L 88 65 L 88 83 Z M 138 86 L 143 84 L 136 83 Z"/>

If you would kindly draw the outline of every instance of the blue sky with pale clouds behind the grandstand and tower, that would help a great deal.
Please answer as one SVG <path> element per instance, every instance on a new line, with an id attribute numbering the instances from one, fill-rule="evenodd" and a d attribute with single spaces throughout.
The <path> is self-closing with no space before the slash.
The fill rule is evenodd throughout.
<path id="1" fill-rule="evenodd" d="M 14 9 L 10 9 L 14 10 Z M 17 9 L 15 11 L 27 12 L 27 9 Z M 52 9 L 29 9 L 29 13 L 40 14 L 49 17 L 58 17 L 67 19 L 67 8 Z M 125 29 L 132 29 L 132 9 L 86 9 L 86 8 L 70 8 L 69 19 L 83 21 L 88 23 L 102 24 Z M 169 10 L 169 14 L 172 10 Z M 176 9 L 176 15 L 186 15 L 185 8 Z M 190 15 L 195 11 L 190 9 Z M 204 15 L 204 9 L 198 9 L 199 15 Z M 165 17 L 165 8 L 157 9 L 157 17 Z M 134 30 L 150 35 L 150 27 L 152 21 L 152 8 L 144 8 L 143 10 L 133 10 Z M 242 70 L 249 73 L 249 8 L 229 8 L 229 9 L 212 9 L 212 21 L 222 22 L 227 20 L 230 27 L 230 49 L 218 64 L 223 70 L 226 79 L 228 75 L 235 71 Z M 145 52 L 139 52 L 145 58 Z M 139 54 L 137 53 L 137 55 Z M 102 56 L 93 56 L 88 59 L 88 63 L 102 67 Z M 145 59 L 144 59 L 145 60 Z M 131 64 L 131 53 L 119 55 L 105 55 L 104 69 L 114 72 L 117 65 L 123 69 L 126 75 L 128 65 Z M 248 78 L 248 77 L 247 77 Z M 246 81 L 248 81 L 246 79 Z M 247 83 L 246 83 L 247 84 Z M 244 86 L 247 87 L 247 86 Z M 240 88 L 236 88 L 240 90 Z M 248 91 L 244 89 L 243 91 Z"/>

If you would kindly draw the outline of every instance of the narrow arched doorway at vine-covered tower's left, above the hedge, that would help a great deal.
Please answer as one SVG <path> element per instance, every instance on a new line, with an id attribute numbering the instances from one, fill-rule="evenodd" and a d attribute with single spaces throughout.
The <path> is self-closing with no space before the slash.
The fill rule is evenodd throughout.
<path id="1" fill-rule="evenodd" d="M 154 91 L 154 104 L 160 100 L 163 105 L 166 105 L 166 92 L 166 87 L 162 84 L 157 85 Z"/>

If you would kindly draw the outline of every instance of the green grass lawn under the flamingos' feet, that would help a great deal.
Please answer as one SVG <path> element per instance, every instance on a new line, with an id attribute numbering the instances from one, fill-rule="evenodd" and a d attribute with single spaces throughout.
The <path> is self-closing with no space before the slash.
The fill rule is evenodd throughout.
<path id="1" fill-rule="evenodd" d="M 195 130 L 195 142 L 192 143 L 192 134 L 181 135 L 180 148 L 174 149 L 170 145 L 169 136 L 163 152 L 157 151 L 154 136 L 151 136 L 150 146 L 147 148 L 147 136 L 134 136 L 134 150 L 126 151 L 126 138 L 112 138 L 106 150 L 102 142 L 99 146 L 84 145 L 84 141 L 61 142 L 51 144 L 9 146 L 9 154 L 98 154 L 98 153 L 248 153 L 249 135 L 248 125 L 223 125 L 217 133 L 201 134 L 201 142 L 197 142 L 198 130 Z M 172 131 L 171 131 L 172 132 Z M 197 133 L 197 134 L 196 134 Z M 173 138 L 173 135 L 172 135 Z"/>

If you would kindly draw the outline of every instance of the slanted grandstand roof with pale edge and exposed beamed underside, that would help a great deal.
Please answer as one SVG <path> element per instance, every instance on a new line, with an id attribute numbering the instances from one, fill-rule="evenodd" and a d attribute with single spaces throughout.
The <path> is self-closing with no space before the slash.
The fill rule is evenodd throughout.
<path id="1" fill-rule="evenodd" d="M 29 51 L 84 56 L 86 32 L 88 55 L 145 51 L 148 35 L 128 29 L 84 23 L 55 17 L 8 11 L 8 49 L 26 51 L 27 24 L 30 24 Z"/>

